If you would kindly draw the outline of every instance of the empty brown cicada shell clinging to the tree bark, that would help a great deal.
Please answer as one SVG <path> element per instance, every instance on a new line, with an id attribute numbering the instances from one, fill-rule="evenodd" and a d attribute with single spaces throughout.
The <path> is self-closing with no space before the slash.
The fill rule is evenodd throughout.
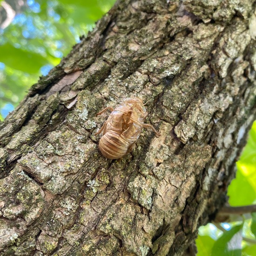
<path id="1" fill-rule="evenodd" d="M 118 159 L 131 152 L 142 128 L 149 127 L 159 135 L 152 125 L 144 123 L 148 112 L 140 98 L 126 98 L 117 108 L 104 108 L 97 115 L 107 110 L 112 112 L 96 135 L 103 131 L 99 148 L 108 159 Z"/>

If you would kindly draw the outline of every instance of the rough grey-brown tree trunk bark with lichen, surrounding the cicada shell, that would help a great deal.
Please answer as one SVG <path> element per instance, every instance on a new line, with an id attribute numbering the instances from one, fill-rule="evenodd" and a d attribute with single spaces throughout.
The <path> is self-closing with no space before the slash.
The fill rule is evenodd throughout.
<path id="1" fill-rule="evenodd" d="M 251 0 L 121 0 L 0 130 L 1 255 L 181 255 L 223 205 L 256 116 Z M 102 157 L 104 106 L 155 137 Z"/>

